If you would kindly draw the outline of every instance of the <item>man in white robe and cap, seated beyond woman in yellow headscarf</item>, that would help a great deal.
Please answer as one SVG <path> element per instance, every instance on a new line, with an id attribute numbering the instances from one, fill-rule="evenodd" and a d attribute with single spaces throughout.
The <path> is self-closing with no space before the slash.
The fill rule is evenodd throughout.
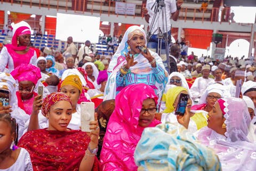
<path id="1" fill-rule="evenodd" d="M 207 88 L 207 85 L 209 82 L 213 81 L 212 78 L 209 78 L 210 75 L 210 66 L 209 64 L 206 64 L 202 68 L 202 74 L 203 77 L 196 78 L 195 82 L 190 88 L 191 94 L 192 94 L 192 100 L 194 102 L 198 102 L 201 95 L 204 93 L 205 89 Z"/>

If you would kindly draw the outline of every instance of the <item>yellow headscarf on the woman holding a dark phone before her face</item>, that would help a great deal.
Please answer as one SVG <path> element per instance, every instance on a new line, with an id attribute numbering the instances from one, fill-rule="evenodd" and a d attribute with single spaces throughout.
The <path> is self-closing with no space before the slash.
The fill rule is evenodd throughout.
<path id="1" fill-rule="evenodd" d="M 182 91 L 187 92 L 188 90 L 184 87 L 176 86 L 176 87 L 170 88 L 166 94 L 163 94 L 162 101 L 165 102 L 165 107 L 166 107 L 163 111 L 164 113 L 171 113 L 174 111 L 173 103 L 175 102 L 177 96 Z"/>

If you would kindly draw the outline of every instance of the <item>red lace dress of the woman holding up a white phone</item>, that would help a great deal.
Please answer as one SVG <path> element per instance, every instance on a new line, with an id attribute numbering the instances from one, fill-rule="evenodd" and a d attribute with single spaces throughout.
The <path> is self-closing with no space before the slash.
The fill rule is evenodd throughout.
<path id="1" fill-rule="evenodd" d="M 90 136 L 81 130 L 60 132 L 45 128 L 27 132 L 18 146 L 29 152 L 34 171 L 77 171 L 89 142 Z M 97 157 L 92 170 L 99 170 Z"/>

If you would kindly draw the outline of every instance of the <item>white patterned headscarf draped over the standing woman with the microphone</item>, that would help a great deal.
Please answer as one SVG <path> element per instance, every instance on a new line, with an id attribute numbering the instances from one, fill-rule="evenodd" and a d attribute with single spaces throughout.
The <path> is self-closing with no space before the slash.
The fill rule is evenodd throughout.
<path id="1" fill-rule="evenodd" d="M 134 30 L 140 30 L 143 33 L 143 36 L 145 38 L 145 42 L 146 42 L 146 46 L 147 46 L 147 39 L 146 39 L 146 33 L 145 31 L 139 27 L 139 26 L 131 26 L 129 27 L 124 34 L 124 37 L 121 41 L 121 43 L 119 44 L 116 53 L 113 55 L 109 66 L 108 66 L 108 81 L 106 84 L 106 88 L 105 88 L 105 100 L 109 100 L 109 99 L 115 99 L 116 97 L 116 74 L 119 71 L 119 69 L 126 63 L 125 60 L 125 53 L 128 53 L 128 44 L 127 44 L 127 40 L 128 40 L 128 36 L 129 34 L 134 31 Z M 157 53 L 150 51 L 150 54 L 155 58 L 156 63 L 163 69 L 164 68 L 164 64 L 162 59 L 160 58 L 160 56 L 158 56 Z M 132 73 L 134 74 L 151 74 L 153 73 L 152 69 L 151 69 L 151 65 L 149 64 L 148 60 L 141 54 L 135 54 L 134 55 L 134 62 L 138 62 L 137 64 L 135 64 L 134 66 L 130 67 L 130 70 Z M 142 68 L 145 69 L 147 71 L 140 71 L 138 70 L 138 68 Z M 166 71 L 167 73 L 167 71 Z M 163 84 L 158 84 L 156 82 L 156 87 L 157 87 L 157 94 L 159 94 L 159 96 L 162 96 L 162 91 L 163 91 Z"/>

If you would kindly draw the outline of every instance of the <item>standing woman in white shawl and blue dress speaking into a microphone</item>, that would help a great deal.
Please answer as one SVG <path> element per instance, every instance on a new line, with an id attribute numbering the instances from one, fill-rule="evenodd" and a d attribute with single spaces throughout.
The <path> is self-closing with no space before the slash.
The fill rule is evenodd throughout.
<path id="1" fill-rule="evenodd" d="M 158 97 L 162 96 L 167 83 L 167 71 L 157 53 L 148 49 L 145 49 L 146 53 L 140 50 L 145 46 L 145 31 L 139 26 L 129 27 L 109 63 L 106 99 L 115 99 L 122 88 L 138 83 L 151 86 Z"/>

